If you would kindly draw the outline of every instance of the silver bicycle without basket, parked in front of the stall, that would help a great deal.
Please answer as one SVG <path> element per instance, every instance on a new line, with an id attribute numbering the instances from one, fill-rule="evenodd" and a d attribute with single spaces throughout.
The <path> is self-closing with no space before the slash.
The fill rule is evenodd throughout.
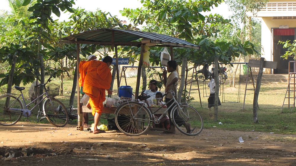
<path id="1" fill-rule="evenodd" d="M 175 96 L 172 91 L 168 93 Z M 181 133 L 187 136 L 196 136 L 202 131 L 202 117 L 192 106 L 189 106 L 187 103 L 178 103 L 175 97 L 173 97 L 173 99 L 153 112 L 147 101 L 149 97 L 149 95 L 140 95 L 139 100 L 143 101 L 127 100 L 118 107 L 115 111 L 115 123 L 121 132 L 128 136 L 139 136 L 148 131 L 151 123 L 159 124 L 160 119 L 167 115 L 170 108 L 172 108 L 170 119 Z M 160 117 L 155 117 L 154 114 L 160 111 L 160 109 L 163 109 L 171 101 L 173 101 L 173 104 L 171 104 Z M 191 124 L 191 131 L 187 131 L 185 127 L 178 125 L 184 122 Z"/>

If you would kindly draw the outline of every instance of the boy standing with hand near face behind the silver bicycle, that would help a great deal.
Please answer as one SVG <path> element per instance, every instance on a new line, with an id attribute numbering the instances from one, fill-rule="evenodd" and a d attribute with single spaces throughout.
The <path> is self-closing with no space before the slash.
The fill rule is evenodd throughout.
<path id="1" fill-rule="evenodd" d="M 170 90 L 173 91 L 174 95 L 177 96 L 177 84 L 178 84 L 178 80 L 179 80 L 179 75 L 178 75 L 178 72 L 176 71 L 177 70 L 177 62 L 175 60 L 170 60 L 168 61 L 168 66 L 167 66 L 167 70 L 164 70 L 163 71 L 163 82 L 165 84 L 165 93 L 168 93 L 170 92 Z M 167 72 L 170 72 L 170 75 L 168 76 L 167 78 Z M 165 102 L 168 102 L 170 101 L 171 99 L 173 99 L 173 95 L 171 93 L 168 93 L 166 96 L 165 96 Z M 176 97 L 175 97 L 176 98 Z M 169 102 L 167 104 L 168 107 L 170 107 L 170 105 L 173 104 L 173 101 Z M 172 111 L 172 109 L 170 108 L 168 110 L 168 114 L 170 115 L 170 112 Z M 190 129 L 190 123 L 186 123 L 184 120 L 182 120 L 179 116 L 178 116 L 178 112 L 175 112 L 176 115 L 173 115 L 176 122 L 178 122 L 178 126 L 181 126 L 181 125 L 184 125 L 184 127 L 186 128 L 187 130 L 187 133 L 191 133 L 191 129 Z M 171 117 L 169 116 L 170 118 L 170 130 L 167 130 L 167 131 L 164 131 L 163 133 L 176 133 L 176 128 L 175 128 L 175 125 L 174 123 L 172 122 L 171 120 Z"/>

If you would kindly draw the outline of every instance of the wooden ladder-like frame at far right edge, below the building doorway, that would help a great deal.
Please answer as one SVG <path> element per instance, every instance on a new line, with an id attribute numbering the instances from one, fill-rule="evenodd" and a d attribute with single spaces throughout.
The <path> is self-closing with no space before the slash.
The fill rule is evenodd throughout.
<path id="1" fill-rule="evenodd" d="M 284 102 L 283 102 L 283 105 L 281 106 L 281 113 L 283 112 L 283 108 L 284 106 L 288 106 L 290 108 L 290 106 L 292 107 L 291 109 L 291 113 L 292 113 L 292 110 L 293 108 L 295 107 L 295 92 L 296 92 L 296 89 L 295 89 L 295 78 L 296 78 L 296 72 L 290 72 L 289 73 L 289 84 L 288 84 L 288 87 L 287 87 L 287 91 L 286 91 L 286 95 L 285 95 L 285 98 L 284 98 Z M 285 104 L 285 101 L 286 99 L 288 99 L 288 104 Z M 293 99 L 293 103 L 291 103 L 291 99 Z"/>

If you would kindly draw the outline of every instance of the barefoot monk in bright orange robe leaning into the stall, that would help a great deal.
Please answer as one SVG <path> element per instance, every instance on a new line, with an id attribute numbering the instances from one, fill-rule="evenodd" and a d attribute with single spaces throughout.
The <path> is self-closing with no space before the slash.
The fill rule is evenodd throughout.
<path id="1" fill-rule="evenodd" d="M 103 61 L 85 62 L 79 69 L 83 83 L 83 92 L 89 95 L 89 104 L 94 115 L 94 126 L 99 124 L 103 109 L 103 101 L 106 99 L 105 90 L 112 94 L 110 84 L 112 80 L 111 69 L 112 58 L 106 56 Z M 102 133 L 94 127 L 94 134 Z"/>

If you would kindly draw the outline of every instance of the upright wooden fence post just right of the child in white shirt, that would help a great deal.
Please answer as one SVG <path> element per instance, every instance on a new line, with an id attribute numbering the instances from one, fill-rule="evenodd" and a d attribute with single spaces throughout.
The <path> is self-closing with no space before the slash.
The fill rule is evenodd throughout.
<path id="1" fill-rule="evenodd" d="M 218 121 L 218 101 L 219 101 L 219 78 L 218 78 L 218 69 L 219 69 L 219 63 L 218 63 L 218 57 L 215 57 L 214 60 L 215 64 L 215 70 L 214 70 L 214 79 L 215 79 L 215 107 L 214 107 L 214 121 Z"/>

